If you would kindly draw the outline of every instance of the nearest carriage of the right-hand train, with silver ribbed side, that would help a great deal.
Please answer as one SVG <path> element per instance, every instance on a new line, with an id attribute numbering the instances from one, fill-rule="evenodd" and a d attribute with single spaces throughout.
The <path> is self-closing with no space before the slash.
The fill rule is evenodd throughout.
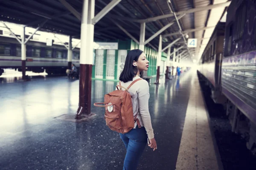
<path id="1" fill-rule="evenodd" d="M 256 1 L 232 0 L 227 10 L 221 90 L 228 98 L 233 130 L 249 129 L 247 147 L 256 144 Z"/>

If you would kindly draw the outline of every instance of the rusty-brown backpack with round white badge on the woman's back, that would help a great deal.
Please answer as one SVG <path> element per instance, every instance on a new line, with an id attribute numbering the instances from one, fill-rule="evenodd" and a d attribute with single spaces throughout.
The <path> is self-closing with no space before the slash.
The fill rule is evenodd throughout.
<path id="1" fill-rule="evenodd" d="M 94 103 L 94 106 L 105 107 L 105 121 L 106 125 L 113 131 L 118 133 L 127 133 L 134 128 L 134 123 L 137 122 L 138 127 L 140 126 L 140 121 L 137 119 L 137 114 L 133 115 L 131 94 L 128 92 L 128 89 L 131 86 L 141 80 L 134 80 L 128 88 L 119 85 L 116 86 L 115 91 L 112 91 L 109 94 L 105 94 L 104 102 Z M 119 89 L 118 89 L 119 87 Z M 125 89 L 124 91 L 122 90 Z M 99 105 L 104 104 L 104 105 Z"/>

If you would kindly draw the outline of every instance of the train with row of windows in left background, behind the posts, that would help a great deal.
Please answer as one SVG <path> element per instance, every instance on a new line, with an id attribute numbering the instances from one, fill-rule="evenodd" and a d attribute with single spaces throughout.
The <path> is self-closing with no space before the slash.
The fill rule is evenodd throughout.
<path id="1" fill-rule="evenodd" d="M 20 37 L 20 35 L 17 36 Z M 46 42 L 38 40 L 38 36 L 33 36 L 26 43 L 26 71 L 35 73 L 45 71 L 48 75 L 66 74 L 68 68 L 67 48 L 57 43 L 47 46 Z M 26 37 L 29 37 L 29 34 L 26 34 Z M 78 69 L 79 59 L 80 48 L 74 48 L 72 63 Z M 10 32 L 0 28 L 0 76 L 3 74 L 4 68 L 21 71 L 21 45 Z"/>

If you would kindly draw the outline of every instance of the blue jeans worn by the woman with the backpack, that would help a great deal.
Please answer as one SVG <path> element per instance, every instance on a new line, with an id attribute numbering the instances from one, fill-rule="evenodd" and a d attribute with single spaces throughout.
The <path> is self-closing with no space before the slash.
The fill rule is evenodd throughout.
<path id="1" fill-rule="evenodd" d="M 136 129 L 132 129 L 128 133 L 119 134 L 126 148 L 123 170 L 136 170 L 147 144 L 148 135 L 145 127 L 137 126 Z"/>

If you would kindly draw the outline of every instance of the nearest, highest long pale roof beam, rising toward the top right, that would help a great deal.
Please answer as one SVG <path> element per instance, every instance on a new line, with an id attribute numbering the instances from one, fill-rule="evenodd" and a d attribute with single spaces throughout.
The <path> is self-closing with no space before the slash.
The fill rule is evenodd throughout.
<path id="1" fill-rule="evenodd" d="M 213 8 L 220 8 L 220 7 L 226 7 L 230 5 L 230 1 L 226 2 L 226 3 L 219 3 L 219 4 L 215 4 L 215 5 L 209 5 L 209 6 L 204 6 L 204 7 L 199 7 L 199 8 L 192 8 L 192 9 L 188 9 L 188 10 L 184 10 L 184 11 L 177 11 L 176 14 L 177 15 L 182 15 L 182 14 L 190 14 L 190 13 L 194 13 L 194 12 L 198 12 L 198 11 L 206 11 L 209 9 L 213 9 Z M 165 19 L 165 18 L 169 18 L 169 17 L 174 17 L 174 14 L 166 14 L 166 15 L 160 15 L 157 17 L 151 17 L 145 20 L 140 20 L 140 22 L 145 22 L 145 23 L 149 23 L 149 22 L 153 22 L 153 21 L 157 21 L 157 20 L 161 20 L 161 19 Z"/>

